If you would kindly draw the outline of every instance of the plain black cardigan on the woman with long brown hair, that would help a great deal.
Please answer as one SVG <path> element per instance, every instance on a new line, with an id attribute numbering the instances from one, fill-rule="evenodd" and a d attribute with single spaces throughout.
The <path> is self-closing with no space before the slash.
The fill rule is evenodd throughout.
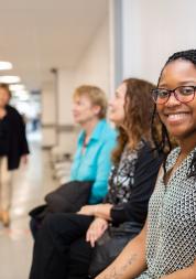
<path id="1" fill-rule="evenodd" d="M 149 143 L 139 151 L 135 164 L 134 185 L 131 189 L 131 196 L 128 203 L 113 205 L 111 208 L 111 219 L 113 225 L 123 222 L 137 222 L 144 224 L 148 205 L 154 190 L 159 169 L 163 161 L 163 153 L 152 151 Z M 106 201 L 107 197 L 106 197 Z"/>

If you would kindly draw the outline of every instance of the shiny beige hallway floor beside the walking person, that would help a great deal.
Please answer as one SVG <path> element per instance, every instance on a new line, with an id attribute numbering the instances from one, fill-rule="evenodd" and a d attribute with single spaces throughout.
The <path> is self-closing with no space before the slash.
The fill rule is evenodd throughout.
<path id="1" fill-rule="evenodd" d="M 11 226 L 0 224 L 0 279 L 28 279 L 33 247 L 28 212 L 55 186 L 48 153 L 41 150 L 39 135 L 31 135 L 30 142 L 29 164 L 14 173 Z"/>

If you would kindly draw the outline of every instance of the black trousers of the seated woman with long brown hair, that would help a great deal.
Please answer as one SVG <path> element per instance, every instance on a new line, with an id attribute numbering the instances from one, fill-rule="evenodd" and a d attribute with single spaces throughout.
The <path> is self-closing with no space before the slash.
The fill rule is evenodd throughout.
<path id="1" fill-rule="evenodd" d="M 91 216 L 53 214 L 39 229 L 30 279 L 86 279 L 92 248 L 85 240 Z"/>

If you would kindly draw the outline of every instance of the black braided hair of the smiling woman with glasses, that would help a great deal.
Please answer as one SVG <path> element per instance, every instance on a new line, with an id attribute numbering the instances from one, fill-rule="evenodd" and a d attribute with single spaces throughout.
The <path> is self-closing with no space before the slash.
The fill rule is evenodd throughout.
<path id="1" fill-rule="evenodd" d="M 196 50 L 187 50 L 187 51 L 176 52 L 172 56 L 170 56 L 168 60 L 166 61 L 164 67 L 161 71 L 161 74 L 160 74 L 160 77 L 159 77 L 159 82 L 157 82 L 157 86 L 160 84 L 160 79 L 162 77 L 162 73 L 163 73 L 165 66 L 168 63 L 171 63 L 173 61 L 176 61 L 176 60 L 189 61 L 196 67 Z M 154 122 L 155 116 L 156 116 L 156 105 L 154 106 L 154 111 L 153 111 L 153 117 L 152 117 L 152 124 Z M 166 127 L 163 125 L 163 122 L 161 122 L 161 124 L 162 124 L 161 140 L 157 141 L 157 140 L 154 139 L 154 142 L 156 144 L 157 150 L 163 150 L 163 151 L 165 150 L 166 151 L 166 152 L 164 152 L 165 153 L 165 159 L 164 159 L 164 163 L 163 163 L 164 172 L 166 172 L 166 170 L 165 170 L 165 162 L 166 162 L 167 154 L 172 150 L 172 143 L 171 143 L 171 140 L 170 140 Z M 152 132 L 152 137 L 153 137 L 153 132 Z M 193 160 L 192 160 L 192 163 L 190 163 L 187 176 L 188 178 L 194 176 L 196 179 L 196 152 L 194 152 L 194 157 L 193 157 Z"/>

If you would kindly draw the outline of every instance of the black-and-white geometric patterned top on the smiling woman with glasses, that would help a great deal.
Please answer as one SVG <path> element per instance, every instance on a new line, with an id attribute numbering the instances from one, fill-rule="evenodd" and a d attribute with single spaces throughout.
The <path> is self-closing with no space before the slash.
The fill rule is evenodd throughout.
<path id="1" fill-rule="evenodd" d="M 174 149 L 167 158 L 170 171 L 179 154 Z M 194 149 L 170 178 L 160 175 L 149 203 L 146 239 L 148 270 L 138 279 L 159 279 L 190 266 L 196 259 L 196 182 L 187 178 Z"/>

